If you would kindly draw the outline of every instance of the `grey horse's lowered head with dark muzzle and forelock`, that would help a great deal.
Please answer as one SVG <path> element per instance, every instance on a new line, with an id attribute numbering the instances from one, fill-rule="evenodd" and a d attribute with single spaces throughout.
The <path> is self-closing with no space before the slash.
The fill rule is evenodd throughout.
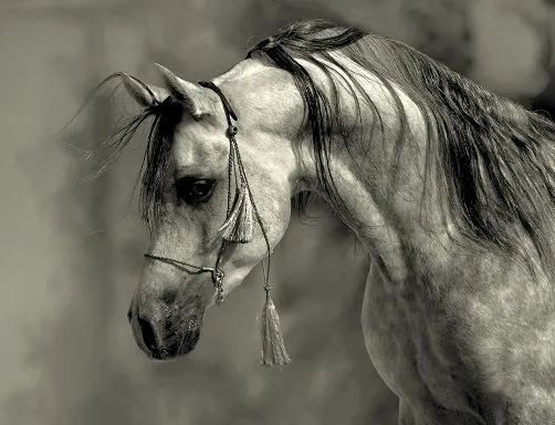
<path id="1" fill-rule="evenodd" d="M 206 308 L 285 234 L 301 177 L 293 142 L 302 103 L 279 70 L 221 79 L 221 95 L 159 69 L 165 87 L 123 80 L 139 104 L 160 108 L 153 137 L 167 139 L 166 153 L 149 146 L 148 160 L 157 164 L 147 164 L 143 184 L 156 186 L 144 187 L 156 191 L 156 219 L 128 313 L 140 349 L 164 360 L 195 348 Z"/>

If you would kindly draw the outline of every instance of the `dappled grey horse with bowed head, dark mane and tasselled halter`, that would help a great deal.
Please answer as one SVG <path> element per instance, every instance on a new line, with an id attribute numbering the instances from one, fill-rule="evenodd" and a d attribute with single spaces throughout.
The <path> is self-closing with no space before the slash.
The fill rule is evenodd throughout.
<path id="1" fill-rule="evenodd" d="M 555 423 L 555 124 L 386 37 L 294 22 L 193 83 L 116 79 L 153 117 L 150 235 L 128 319 L 154 360 L 193 350 L 208 308 L 259 263 L 262 362 L 290 362 L 270 255 L 324 198 L 371 266 L 364 341 L 402 425 Z M 107 79 L 107 80 L 108 80 Z M 106 81 L 107 81 L 106 80 Z M 115 160 L 115 159 L 114 159 Z"/>

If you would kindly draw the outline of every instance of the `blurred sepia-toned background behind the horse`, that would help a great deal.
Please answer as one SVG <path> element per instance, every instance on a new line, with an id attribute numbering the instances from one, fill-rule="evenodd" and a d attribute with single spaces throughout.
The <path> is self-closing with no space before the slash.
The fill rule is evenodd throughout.
<path id="1" fill-rule="evenodd" d="M 0 425 L 396 424 L 359 329 L 368 263 L 325 207 L 294 219 L 273 282 L 293 364 L 258 363 L 261 271 L 209 311 L 198 348 L 151 363 L 125 318 L 145 234 L 145 139 L 103 177 L 66 146 L 107 135 L 107 74 L 153 62 L 207 80 L 286 22 L 327 18 L 412 44 L 555 116 L 547 0 L 0 0 Z"/>

